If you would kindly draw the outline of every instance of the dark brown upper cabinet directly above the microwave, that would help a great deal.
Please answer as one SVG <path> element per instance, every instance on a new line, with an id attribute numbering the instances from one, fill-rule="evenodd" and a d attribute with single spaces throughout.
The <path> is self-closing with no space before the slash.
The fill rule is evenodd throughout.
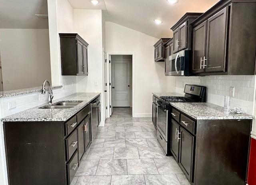
<path id="1" fill-rule="evenodd" d="M 173 53 L 192 47 L 192 26 L 190 24 L 202 13 L 186 13 L 171 30 L 173 31 Z"/>

